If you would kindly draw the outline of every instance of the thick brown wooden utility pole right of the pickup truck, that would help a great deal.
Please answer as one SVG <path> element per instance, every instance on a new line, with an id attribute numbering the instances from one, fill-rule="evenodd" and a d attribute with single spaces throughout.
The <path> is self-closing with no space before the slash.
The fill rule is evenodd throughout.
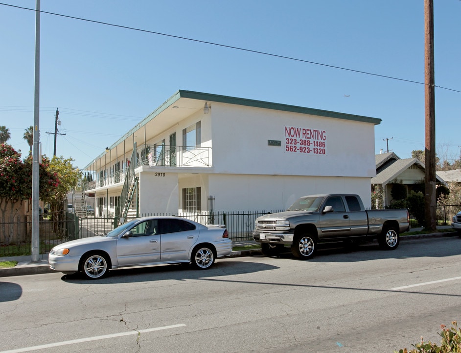
<path id="1" fill-rule="evenodd" d="M 436 105 L 434 78 L 434 0 L 424 0 L 425 199 L 427 230 L 436 230 Z"/>

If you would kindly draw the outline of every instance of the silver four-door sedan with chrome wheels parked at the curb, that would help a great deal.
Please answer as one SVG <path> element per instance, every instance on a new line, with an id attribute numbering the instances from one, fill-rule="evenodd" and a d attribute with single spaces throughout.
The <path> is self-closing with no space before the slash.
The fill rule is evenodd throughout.
<path id="1" fill-rule="evenodd" d="M 203 226 L 180 217 L 143 217 L 102 236 L 57 245 L 49 252 L 48 263 L 56 271 L 97 279 L 111 269 L 129 266 L 192 263 L 206 270 L 230 252 L 232 241 L 225 226 Z"/>

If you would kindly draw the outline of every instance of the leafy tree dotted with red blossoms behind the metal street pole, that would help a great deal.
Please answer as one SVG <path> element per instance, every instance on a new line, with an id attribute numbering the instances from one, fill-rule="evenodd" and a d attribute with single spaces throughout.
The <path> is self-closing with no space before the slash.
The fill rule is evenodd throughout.
<path id="1" fill-rule="evenodd" d="M 48 170 L 48 159 L 42 158 L 39 165 L 39 195 L 42 200 L 53 193 L 59 179 Z M 8 144 L 0 145 L 0 214 L 2 227 L 7 216 L 16 216 L 23 201 L 32 197 L 32 157 L 21 160 L 21 153 Z M 11 232 L 1 229 L 9 243 Z"/>

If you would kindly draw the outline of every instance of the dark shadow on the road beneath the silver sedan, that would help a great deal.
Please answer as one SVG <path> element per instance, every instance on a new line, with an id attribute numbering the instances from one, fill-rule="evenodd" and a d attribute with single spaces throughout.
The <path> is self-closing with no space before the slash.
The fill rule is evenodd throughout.
<path id="1" fill-rule="evenodd" d="M 111 270 L 107 277 L 96 280 L 86 279 L 79 274 L 64 275 L 61 279 L 69 283 L 82 284 L 134 283 L 159 280 L 184 281 L 187 279 L 242 275 L 278 268 L 277 266 L 260 262 L 219 261 L 218 259 L 213 267 L 208 270 L 195 270 L 189 264 L 154 265 Z"/>

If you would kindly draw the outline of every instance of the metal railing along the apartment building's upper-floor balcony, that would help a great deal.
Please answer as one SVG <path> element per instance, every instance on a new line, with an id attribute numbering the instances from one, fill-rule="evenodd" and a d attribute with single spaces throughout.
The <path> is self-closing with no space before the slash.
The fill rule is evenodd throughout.
<path id="1" fill-rule="evenodd" d="M 193 146 L 168 146 L 168 145 L 142 145 L 137 148 L 137 160 L 141 165 L 149 167 L 184 167 L 184 168 L 206 168 L 211 167 L 211 148 Z M 109 165 L 103 166 L 106 170 Z M 125 181 L 125 170 L 112 172 L 109 175 L 101 176 L 96 171 L 96 180 L 85 184 L 85 190 L 114 185 Z"/>

